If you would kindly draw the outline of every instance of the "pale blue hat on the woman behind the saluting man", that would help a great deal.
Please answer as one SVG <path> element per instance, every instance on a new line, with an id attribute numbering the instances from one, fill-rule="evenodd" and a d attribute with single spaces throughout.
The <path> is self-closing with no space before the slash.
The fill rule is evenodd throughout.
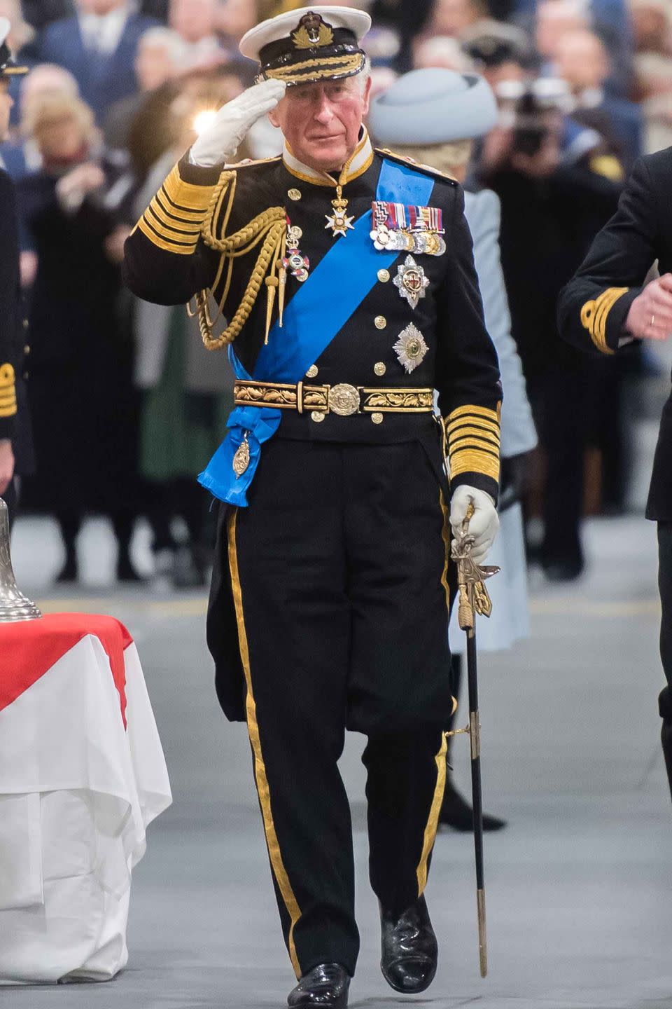
<path id="1" fill-rule="evenodd" d="M 377 95 L 369 129 L 377 143 L 449 143 L 485 136 L 497 124 L 492 88 L 478 74 L 428 67 L 404 74 Z"/>

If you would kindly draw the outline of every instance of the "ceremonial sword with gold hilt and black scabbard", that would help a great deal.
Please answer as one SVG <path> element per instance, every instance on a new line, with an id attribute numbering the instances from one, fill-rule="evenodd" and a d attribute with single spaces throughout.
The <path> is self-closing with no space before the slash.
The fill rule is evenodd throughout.
<path id="1" fill-rule="evenodd" d="M 466 632 L 466 672 L 468 678 L 469 723 L 449 736 L 461 733 L 469 737 L 472 746 L 472 795 L 474 807 L 474 847 L 476 853 L 477 909 L 479 915 L 479 960 L 481 977 L 488 974 L 488 936 L 486 929 L 486 884 L 483 862 L 483 793 L 481 789 L 481 721 L 479 715 L 479 681 L 476 649 L 476 614 L 490 616 L 493 603 L 484 582 L 500 570 L 498 567 L 480 567 L 472 560 L 474 537 L 468 526 L 474 518 L 474 504 L 469 504 L 461 531 L 454 537 L 450 555 L 457 565 L 459 604 L 457 623 Z"/>

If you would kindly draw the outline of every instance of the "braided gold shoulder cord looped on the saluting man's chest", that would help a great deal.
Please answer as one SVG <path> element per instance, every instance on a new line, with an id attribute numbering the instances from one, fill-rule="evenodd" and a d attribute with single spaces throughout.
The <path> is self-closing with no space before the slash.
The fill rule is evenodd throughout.
<path id="1" fill-rule="evenodd" d="M 200 232 L 206 245 L 221 252 L 220 266 L 212 288 L 200 291 L 195 296 L 195 309 L 191 310 L 187 305 L 189 316 L 198 316 L 200 336 L 208 350 L 220 350 L 222 347 L 233 343 L 241 332 L 243 326 L 248 321 L 250 313 L 254 307 L 262 283 L 266 284 L 266 339 L 271 328 L 271 317 L 275 302 L 275 293 L 278 291 L 279 325 L 282 326 L 282 311 L 284 307 L 285 292 L 285 269 L 282 259 L 285 255 L 285 245 L 287 240 L 286 212 L 284 207 L 269 207 L 261 214 L 250 221 L 244 228 L 235 234 L 226 237 L 227 225 L 231 216 L 236 193 L 236 172 L 223 172 L 220 181 L 213 193 L 208 216 L 206 217 L 203 230 Z M 224 218 L 220 226 L 225 198 L 228 196 Z M 221 235 L 221 237 L 218 237 Z M 240 256 L 247 255 L 261 242 L 261 249 L 257 256 L 257 262 L 252 270 L 252 275 L 241 299 L 241 303 L 236 309 L 231 322 L 220 336 L 214 336 L 215 324 L 223 314 L 225 302 L 231 289 L 231 278 L 234 268 L 234 260 Z M 219 303 L 217 319 L 213 320 L 208 307 L 208 298 L 211 291 L 217 289 L 218 284 L 227 266 L 227 275 L 224 285 L 224 293 Z"/>

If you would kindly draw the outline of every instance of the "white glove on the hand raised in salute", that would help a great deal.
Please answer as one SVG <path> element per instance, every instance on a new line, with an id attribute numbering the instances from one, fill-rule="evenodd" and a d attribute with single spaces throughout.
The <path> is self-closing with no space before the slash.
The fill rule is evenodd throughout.
<path id="1" fill-rule="evenodd" d="M 275 108 L 286 88 L 284 81 L 262 81 L 223 105 L 192 145 L 189 151 L 191 164 L 213 169 L 231 160 L 250 126 Z"/>

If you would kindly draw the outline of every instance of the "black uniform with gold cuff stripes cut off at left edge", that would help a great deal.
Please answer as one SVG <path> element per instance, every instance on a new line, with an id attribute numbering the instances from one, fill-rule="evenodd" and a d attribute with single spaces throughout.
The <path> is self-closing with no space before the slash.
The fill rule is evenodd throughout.
<path id="1" fill-rule="evenodd" d="M 32 470 L 32 442 L 25 381 L 27 323 L 19 278 L 19 240 L 14 184 L 0 169 L 0 440 L 9 439 L 16 475 Z M 3 497 L 14 518 L 16 492 L 12 481 Z"/>

